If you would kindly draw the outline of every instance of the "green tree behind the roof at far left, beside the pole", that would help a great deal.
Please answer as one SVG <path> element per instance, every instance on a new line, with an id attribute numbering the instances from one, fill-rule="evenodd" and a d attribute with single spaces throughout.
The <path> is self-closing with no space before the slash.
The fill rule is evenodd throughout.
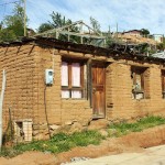
<path id="1" fill-rule="evenodd" d="M 7 15 L 2 21 L 0 41 L 13 41 L 24 35 L 24 9 L 15 4 L 12 15 Z"/>

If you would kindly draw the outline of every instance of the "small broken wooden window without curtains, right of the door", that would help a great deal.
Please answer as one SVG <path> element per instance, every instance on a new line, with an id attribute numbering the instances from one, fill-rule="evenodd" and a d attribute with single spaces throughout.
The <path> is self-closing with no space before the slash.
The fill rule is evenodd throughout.
<path id="1" fill-rule="evenodd" d="M 133 99 L 144 98 L 144 72 L 145 72 L 145 68 L 141 68 L 141 67 L 131 68 L 132 98 Z"/>

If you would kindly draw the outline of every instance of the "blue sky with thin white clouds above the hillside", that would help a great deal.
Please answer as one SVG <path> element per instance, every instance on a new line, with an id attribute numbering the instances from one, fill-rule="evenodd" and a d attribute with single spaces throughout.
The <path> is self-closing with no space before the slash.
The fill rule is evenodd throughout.
<path id="1" fill-rule="evenodd" d="M 0 0 L 0 21 L 14 7 L 16 0 Z M 73 22 L 82 20 L 90 25 L 95 18 L 102 31 L 147 29 L 152 34 L 165 34 L 165 0 L 26 0 L 29 28 L 36 30 L 51 21 L 52 12 L 59 12 Z"/>

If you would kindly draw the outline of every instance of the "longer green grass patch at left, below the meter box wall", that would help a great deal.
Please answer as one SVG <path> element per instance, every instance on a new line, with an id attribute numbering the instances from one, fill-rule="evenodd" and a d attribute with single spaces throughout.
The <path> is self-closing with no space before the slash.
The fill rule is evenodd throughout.
<path id="1" fill-rule="evenodd" d="M 28 144 L 18 144 L 12 148 L 3 148 L 0 156 L 13 157 L 25 151 L 61 153 L 76 146 L 98 145 L 103 139 L 105 136 L 98 131 L 75 132 L 73 134 L 58 133 L 47 141 L 33 141 Z"/>

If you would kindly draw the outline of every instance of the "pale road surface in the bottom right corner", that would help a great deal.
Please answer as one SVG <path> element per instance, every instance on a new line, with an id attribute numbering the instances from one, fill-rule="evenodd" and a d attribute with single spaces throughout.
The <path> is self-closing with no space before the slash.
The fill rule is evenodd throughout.
<path id="1" fill-rule="evenodd" d="M 122 153 L 67 165 L 165 165 L 165 145 L 150 147 L 142 153 Z"/>

